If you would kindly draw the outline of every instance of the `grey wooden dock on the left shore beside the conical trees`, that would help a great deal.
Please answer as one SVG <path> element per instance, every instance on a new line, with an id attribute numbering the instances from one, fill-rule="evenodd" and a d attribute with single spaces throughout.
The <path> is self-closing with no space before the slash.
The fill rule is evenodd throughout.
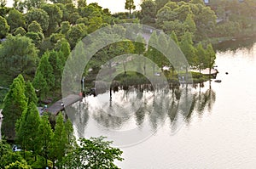
<path id="1" fill-rule="evenodd" d="M 55 102 L 54 104 L 50 105 L 49 108 L 44 109 L 44 112 L 49 112 L 55 115 L 65 109 L 65 107 L 78 102 L 79 100 L 83 99 L 82 96 L 77 94 L 70 94 L 66 98 L 60 99 L 59 101 Z"/>

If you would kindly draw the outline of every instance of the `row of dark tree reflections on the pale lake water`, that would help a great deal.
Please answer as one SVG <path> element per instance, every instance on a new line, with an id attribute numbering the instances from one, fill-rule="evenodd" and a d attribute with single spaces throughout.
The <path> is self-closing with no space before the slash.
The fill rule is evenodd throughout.
<path id="1" fill-rule="evenodd" d="M 96 97 L 87 96 L 82 103 L 68 108 L 71 109 L 68 112 L 74 112 L 68 117 L 79 131 L 79 137 L 86 132 L 88 121 L 109 131 L 129 127 L 143 130 L 149 125 L 152 132 L 168 122 L 172 132 L 181 120 L 189 123 L 193 115 L 201 116 L 211 111 L 216 99 L 211 86 L 206 90 L 200 84 L 156 87 L 155 90 L 150 85 L 132 86 L 128 90 L 120 88 L 112 93 L 112 97 L 107 91 Z M 189 100 L 192 102 L 188 108 Z"/>

